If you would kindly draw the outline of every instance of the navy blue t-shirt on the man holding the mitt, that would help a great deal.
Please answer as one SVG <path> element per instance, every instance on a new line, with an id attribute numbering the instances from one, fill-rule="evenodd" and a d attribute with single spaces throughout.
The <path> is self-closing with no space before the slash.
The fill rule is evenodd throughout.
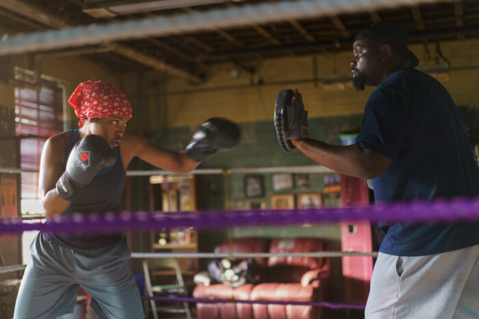
<path id="1" fill-rule="evenodd" d="M 428 74 L 393 72 L 372 92 L 356 143 L 393 161 L 373 179 L 376 201 L 479 195 L 479 167 L 448 91 Z M 379 251 L 430 255 L 479 244 L 479 223 L 380 227 Z"/>

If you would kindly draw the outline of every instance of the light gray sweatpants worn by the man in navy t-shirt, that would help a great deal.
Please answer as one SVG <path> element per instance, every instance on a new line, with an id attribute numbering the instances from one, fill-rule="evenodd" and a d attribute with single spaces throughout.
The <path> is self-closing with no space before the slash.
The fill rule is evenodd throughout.
<path id="1" fill-rule="evenodd" d="M 365 318 L 479 318 L 479 245 L 436 255 L 379 253 Z"/>

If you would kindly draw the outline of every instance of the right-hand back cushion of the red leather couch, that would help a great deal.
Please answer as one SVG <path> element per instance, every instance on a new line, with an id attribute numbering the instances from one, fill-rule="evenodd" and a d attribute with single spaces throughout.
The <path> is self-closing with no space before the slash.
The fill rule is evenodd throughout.
<path id="1" fill-rule="evenodd" d="M 324 251 L 322 240 L 317 238 L 278 238 L 272 240 L 270 244 L 270 253 L 309 253 L 314 251 Z M 289 265 L 315 269 L 320 268 L 322 264 L 322 258 L 298 256 L 268 258 L 268 266 L 270 267 Z"/>

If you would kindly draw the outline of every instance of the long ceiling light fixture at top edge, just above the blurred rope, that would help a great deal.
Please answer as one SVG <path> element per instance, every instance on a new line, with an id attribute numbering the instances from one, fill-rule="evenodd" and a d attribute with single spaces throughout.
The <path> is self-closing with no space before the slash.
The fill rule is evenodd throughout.
<path id="1" fill-rule="evenodd" d="M 90 7 L 83 8 L 83 12 L 90 14 L 95 18 L 105 18 L 110 16 L 133 14 L 139 12 L 151 12 L 159 10 L 169 10 L 177 8 L 188 8 L 198 5 L 209 5 L 223 3 L 229 0 L 156 0 L 131 3 L 96 3 Z"/>

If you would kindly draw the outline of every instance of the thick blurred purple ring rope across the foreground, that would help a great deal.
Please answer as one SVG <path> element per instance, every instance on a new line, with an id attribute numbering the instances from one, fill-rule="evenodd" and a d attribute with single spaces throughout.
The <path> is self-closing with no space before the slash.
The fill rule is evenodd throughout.
<path id="1" fill-rule="evenodd" d="M 302 210 L 230 210 L 207 212 L 107 212 L 60 216 L 47 223 L 0 219 L 0 234 L 29 230 L 51 232 L 123 232 L 183 227 L 224 229 L 233 226 L 297 225 L 370 220 L 402 223 L 479 221 L 479 197 L 436 199 L 432 202 L 396 202 L 350 208 Z"/>

